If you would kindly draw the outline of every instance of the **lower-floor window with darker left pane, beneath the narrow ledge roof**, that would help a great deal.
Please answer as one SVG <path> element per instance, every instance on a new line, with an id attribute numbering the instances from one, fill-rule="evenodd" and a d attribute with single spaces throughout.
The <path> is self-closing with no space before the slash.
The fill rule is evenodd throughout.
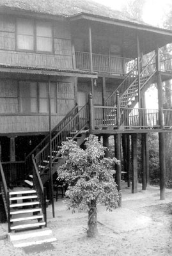
<path id="1" fill-rule="evenodd" d="M 47 83 L 19 83 L 21 113 L 49 113 Z M 56 83 L 51 83 L 51 113 L 56 113 Z"/>

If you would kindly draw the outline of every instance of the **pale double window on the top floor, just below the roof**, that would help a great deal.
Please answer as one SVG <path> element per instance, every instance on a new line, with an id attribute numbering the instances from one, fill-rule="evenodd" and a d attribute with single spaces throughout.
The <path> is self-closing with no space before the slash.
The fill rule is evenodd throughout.
<path id="1" fill-rule="evenodd" d="M 52 52 L 51 23 L 17 19 L 17 49 Z"/>

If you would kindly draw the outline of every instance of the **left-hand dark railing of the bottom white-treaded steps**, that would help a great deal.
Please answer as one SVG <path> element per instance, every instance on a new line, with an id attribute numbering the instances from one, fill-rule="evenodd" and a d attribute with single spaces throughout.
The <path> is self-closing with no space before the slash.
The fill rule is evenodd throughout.
<path id="1" fill-rule="evenodd" d="M 6 217 L 8 220 L 8 232 L 10 232 L 10 196 L 8 186 L 6 184 L 6 178 L 3 171 L 2 163 L 0 162 L 0 173 L 1 173 L 1 189 L 3 190 L 2 193 L 4 195 L 4 208 L 6 210 Z"/>

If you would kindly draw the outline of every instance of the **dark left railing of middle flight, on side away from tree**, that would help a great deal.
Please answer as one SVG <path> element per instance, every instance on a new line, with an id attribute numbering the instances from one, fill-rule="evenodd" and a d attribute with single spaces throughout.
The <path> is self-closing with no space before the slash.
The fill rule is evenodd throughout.
<path id="1" fill-rule="evenodd" d="M 54 127 L 54 129 L 52 129 L 52 138 L 54 136 L 54 134 L 56 134 L 57 132 L 61 131 L 61 129 L 63 129 L 63 127 L 65 127 L 66 124 L 68 124 L 68 122 L 76 115 L 78 111 L 78 106 L 76 105 L 66 116 L 65 118 L 63 118 L 63 120 L 61 120 L 61 122 L 59 122 L 58 125 L 56 125 L 56 127 Z M 25 159 L 25 176 L 27 177 L 27 175 L 31 172 L 33 172 L 33 165 L 32 163 L 32 155 L 36 156 L 36 154 L 38 154 L 38 152 L 40 152 L 40 150 L 42 150 L 43 148 L 47 147 L 47 145 L 49 145 L 49 138 L 50 135 L 48 134 L 27 156 Z M 48 152 L 49 154 L 49 152 Z"/>

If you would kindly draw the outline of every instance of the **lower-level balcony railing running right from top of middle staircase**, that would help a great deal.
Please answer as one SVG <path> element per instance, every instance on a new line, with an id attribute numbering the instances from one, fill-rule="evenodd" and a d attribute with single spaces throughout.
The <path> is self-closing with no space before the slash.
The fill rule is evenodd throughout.
<path id="1" fill-rule="evenodd" d="M 113 126 L 117 129 L 117 108 L 94 106 L 95 126 Z M 164 129 L 172 128 L 172 109 L 163 109 Z M 123 129 L 160 128 L 159 109 L 120 108 L 120 126 Z"/>

